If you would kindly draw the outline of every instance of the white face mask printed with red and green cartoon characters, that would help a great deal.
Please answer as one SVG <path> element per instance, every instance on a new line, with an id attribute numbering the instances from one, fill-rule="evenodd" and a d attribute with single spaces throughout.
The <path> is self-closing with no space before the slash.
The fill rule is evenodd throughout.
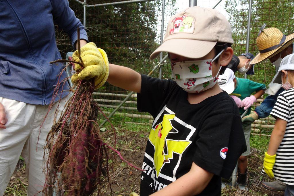
<path id="1" fill-rule="evenodd" d="M 210 89 L 216 84 L 221 69 L 220 67 L 216 76 L 212 77 L 212 62 L 223 51 L 224 49 L 213 59 L 173 63 L 171 65 L 172 78 L 189 93 L 199 93 Z"/>

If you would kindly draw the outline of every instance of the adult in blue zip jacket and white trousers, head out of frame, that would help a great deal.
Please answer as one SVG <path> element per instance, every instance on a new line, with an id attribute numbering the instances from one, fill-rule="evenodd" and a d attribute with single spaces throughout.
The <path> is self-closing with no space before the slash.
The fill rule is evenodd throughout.
<path id="1" fill-rule="evenodd" d="M 0 195 L 20 155 L 26 162 L 27 194 L 35 195 L 44 186 L 43 147 L 58 104 L 45 121 L 44 116 L 64 68 L 49 64 L 61 58 L 54 22 L 70 36 L 74 47 L 78 27 L 81 46 L 88 42 L 86 30 L 67 0 L 0 1 Z M 62 73 L 59 80 L 65 77 Z M 65 86 L 55 100 L 61 99 L 60 109 L 68 90 Z"/>

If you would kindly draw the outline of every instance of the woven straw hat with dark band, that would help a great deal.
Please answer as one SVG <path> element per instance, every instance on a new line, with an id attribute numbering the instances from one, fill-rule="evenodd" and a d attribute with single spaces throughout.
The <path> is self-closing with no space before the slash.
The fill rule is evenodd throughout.
<path id="1" fill-rule="evenodd" d="M 250 64 L 256 64 L 275 56 L 293 41 L 294 33 L 285 36 L 279 29 L 274 27 L 263 29 L 256 39 L 259 53 L 252 59 Z"/>

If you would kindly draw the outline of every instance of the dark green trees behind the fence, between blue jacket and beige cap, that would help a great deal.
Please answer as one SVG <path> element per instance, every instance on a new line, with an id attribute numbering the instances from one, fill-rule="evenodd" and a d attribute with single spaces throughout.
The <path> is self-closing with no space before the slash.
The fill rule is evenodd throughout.
<path id="1" fill-rule="evenodd" d="M 90 4 L 111 1 L 91 1 Z M 83 20 L 83 6 L 69 0 L 76 16 Z M 175 0 L 166 1 L 173 6 Z M 148 73 L 156 62 L 149 60 L 158 46 L 158 15 L 161 14 L 161 0 L 118 6 L 90 7 L 86 11 L 86 28 L 89 41 L 106 51 L 109 62 L 131 67 L 140 73 Z M 160 24 L 159 24 L 160 25 Z M 59 29 L 56 30 L 60 51 L 72 51 L 70 41 Z M 156 42 L 157 41 L 157 42 Z"/>

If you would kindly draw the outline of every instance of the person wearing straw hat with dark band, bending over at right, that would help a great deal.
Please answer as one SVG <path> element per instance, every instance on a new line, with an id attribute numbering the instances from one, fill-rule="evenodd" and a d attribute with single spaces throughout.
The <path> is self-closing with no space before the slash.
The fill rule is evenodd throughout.
<path id="1" fill-rule="evenodd" d="M 260 29 L 256 44 L 259 53 L 252 59 L 250 64 L 256 64 L 266 59 L 275 66 L 276 72 L 280 67 L 280 62 L 288 54 L 293 53 L 294 34 L 284 35 L 279 29 L 271 27 Z M 272 111 L 278 95 L 284 91 L 281 84 L 276 82 L 278 73 L 275 74 L 273 80 L 269 84 L 269 88 L 265 93 L 269 94 L 260 106 L 257 106 L 253 112 L 243 117 L 243 124 L 252 124 L 258 118 L 268 117 Z M 285 184 L 278 180 L 274 182 L 263 182 L 263 187 L 269 190 L 285 190 Z"/>

